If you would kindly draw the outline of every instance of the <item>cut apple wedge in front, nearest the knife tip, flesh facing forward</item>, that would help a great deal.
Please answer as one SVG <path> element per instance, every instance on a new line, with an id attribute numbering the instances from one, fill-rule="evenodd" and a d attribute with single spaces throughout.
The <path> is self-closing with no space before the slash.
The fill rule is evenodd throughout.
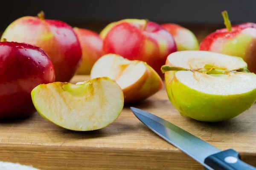
<path id="1" fill-rule="evenodd" d="M 124 96 L 119 85 L 108 77 L 80 85 L 53 82 L 35 87 L 32 101 L 45 119 L 70 130 L 97 130 L 120 115 Z"/>

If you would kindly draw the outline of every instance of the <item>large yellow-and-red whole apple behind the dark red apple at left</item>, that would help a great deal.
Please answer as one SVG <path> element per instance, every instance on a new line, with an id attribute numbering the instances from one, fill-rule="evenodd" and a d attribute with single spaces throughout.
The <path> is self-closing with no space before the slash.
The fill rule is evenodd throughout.
<path id="1" fill-rule="evenodd" d="M 42 48 L 52 60 L 56 81 L 69 82 L 81 62 L 81 46 L 73 28 L 58 20 L 44 19 L 43 11 L 38 17 L 26 16 L 13 21 L 2 38 Z"/>

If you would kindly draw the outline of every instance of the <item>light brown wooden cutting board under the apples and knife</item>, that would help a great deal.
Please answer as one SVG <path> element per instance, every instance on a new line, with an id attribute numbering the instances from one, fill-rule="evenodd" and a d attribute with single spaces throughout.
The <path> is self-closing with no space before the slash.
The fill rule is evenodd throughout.
<path id="1" fill-rule="evenodd" d="M 87 79 L 75 76 L 71 82 Z M 101 130 L 66 130 L 38 113 L 22 121 L 2 122 L 0 161 L 41 170 L 204 170 L 143 125 L 130 106 L 154 113 L 221 150 L 235 149 L 243 161 L 256 166 L 256 104 L 226 122 L 198 122 L 180 116 L 165 88 L 141 103 L 125 105 L 119 118 Z"/>

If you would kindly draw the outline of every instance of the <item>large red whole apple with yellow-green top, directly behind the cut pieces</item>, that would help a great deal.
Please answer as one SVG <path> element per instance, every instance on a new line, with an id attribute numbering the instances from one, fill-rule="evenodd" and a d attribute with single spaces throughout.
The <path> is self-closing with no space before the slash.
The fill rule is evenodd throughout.
<path id="1" fill-rule="evenodd" d="M 110 23 L 100 33 L 104 54 L 119 54 L 129 60 L 147 62 L 160 77 L 161 66 L 177 51 L 172 35 L 148 20 L 125 19 Z"/>

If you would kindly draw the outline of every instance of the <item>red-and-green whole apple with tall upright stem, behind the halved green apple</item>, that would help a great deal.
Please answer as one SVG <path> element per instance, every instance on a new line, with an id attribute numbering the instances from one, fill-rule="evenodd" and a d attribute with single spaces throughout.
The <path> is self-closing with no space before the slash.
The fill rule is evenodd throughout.
<path id="1" fill-rule="evenodd" d="M 232 28 L 227 11 L 223 11 L 222 15 L 227 28 L 205 37 L 199 50 L 241 57 L 247 63 L 248 70 L 256 73 L 256 28 L 245 25 Z"/>

